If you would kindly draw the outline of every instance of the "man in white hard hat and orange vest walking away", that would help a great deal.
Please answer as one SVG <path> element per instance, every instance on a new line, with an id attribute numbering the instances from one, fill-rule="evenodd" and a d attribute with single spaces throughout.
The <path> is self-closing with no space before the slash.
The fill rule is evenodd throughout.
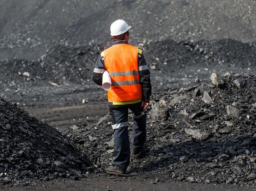
<path id="1" fill-rule="evenodd" d="M 113 166 L 111 173 L 126 173 L 130 153 L 139 154 L 145 149 L 146 113 L 151 95 L 150 72 L 141 49 L 128 44 L 131 27 L 124 20 L 116 20 L 110 26 L 114 43 L 105 49 L 96 61 L 93 81 L 102 85 L 102 74 L 108 71 L 111 89 L 108 90 L 108 106 L 114 131 Z M 129 144 L 128 109 L 133 113 L 133 137 Z M 131 150 L 130 150 L 131 146 Z"/>

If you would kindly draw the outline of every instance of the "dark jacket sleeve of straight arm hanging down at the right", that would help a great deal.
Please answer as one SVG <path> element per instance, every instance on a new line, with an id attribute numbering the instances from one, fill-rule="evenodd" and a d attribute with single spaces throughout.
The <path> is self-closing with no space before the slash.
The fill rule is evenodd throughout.
<path id="1" fill-rule="evenodd" d="M 151 95 L 151 83 L 150 83 L 150 71 L 148 69 L 146 60 L 143 56 L 142 51 L 138 51 L 138 65 L 139 65 L 139 83 L 142 87 L 142 101 L 149 102 Z"/>

